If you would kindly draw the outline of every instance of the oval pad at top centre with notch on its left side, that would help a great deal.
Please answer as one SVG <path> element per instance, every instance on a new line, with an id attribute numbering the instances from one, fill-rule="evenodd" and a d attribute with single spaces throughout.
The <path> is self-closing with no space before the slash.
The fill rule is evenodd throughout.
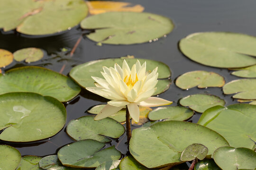
<path id="1" fill-rule="evenodd" d="M 92 41 L 115 45 L 149 42 L 174 29 L 171 19 L 146 12 L 107 12 L 87 17 L 80 25 L 96 29 L 87 35 Z"/>

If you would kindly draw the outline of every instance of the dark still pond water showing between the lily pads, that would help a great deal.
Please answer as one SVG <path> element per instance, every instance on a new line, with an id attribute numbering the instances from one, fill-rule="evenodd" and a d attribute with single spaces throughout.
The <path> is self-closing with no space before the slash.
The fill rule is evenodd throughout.
<path id="1" fill-rule="evenodd" d="M 226 101 L 226 105 L 237 103 L 232 100 L 231 95 L 223 95 L 222 88 L 198 89 L 192 88 L 188 91 L 181 90 L 174 85 L 174 79 L 181 74 L 193 70 L 214 71 L 225 77 L 226 82 L 239 77 L 230 75 L 229 70 L 203 66 L 186 58 L 178 49 L 180 39 L 188 34 L 206 31 L 227 31 L 243 34 L 256 35 L 256 1 L 255 0 L 123 0 L 134 4 L 141 4 L 146 12 L 151 12 L 174 21 L 175 28 L 166 38 L 159 38 L 156 42 L 135 45 L 106 45 L 97 46 L 95 42 L 87 39 L 86 30 L 79 26 L 53 36 L 34 37 L 27 36 L 14 31 L 0 33 L 0 48 L 14 52 L 21 48 L 38 47 L 45 50 L 45 56 L 41 61 L 31 64 L 13 62 L 4 71 L 23 65 L 43 66 L 59 72 L 63 65 L 64 75 L 68 75 L 71 68 L 87 61 L 104 58 L 115 58 L 126 55 L 134 55 L 136 58 L 155 59 L 164 62 L 172 70 L 172 85 L 168 91 L 159 97 L 174 101 L 173 106 L 182 97 L 195 93 L 208 93 L 219 96 Z M 79 37 L 83 37 L 73 57 L 61 52 L 62 48 L 71 50 Z M 85 90 L 72 101 L 66 103 L 67 123 L 71 119 L 77 119 L 88 113 L 86 110 L 94 105 L 106 103 L 101 97 L 88 93 Z M 196 123 L 201 116 L 196 113 L 192 122 Z M 66 123 L 66 125 L 67 125 Z M 66 127 L 65 125 L 65 127 Z M 0 144 L 9 144 L 16 147 L 22 155 L 45 156 L 55 154 L 61 146 L 74 142 L 65 133 L 65 127 L 55 136 L 47 140 L 19 144 L 0 141 Z M 117 149 L 126 154 L 128 149 L 125 144 L 126 136 L 123 135 L 119 141 L 113 140 Z M 110 144 L 107 144 L 108 146 Z"/>

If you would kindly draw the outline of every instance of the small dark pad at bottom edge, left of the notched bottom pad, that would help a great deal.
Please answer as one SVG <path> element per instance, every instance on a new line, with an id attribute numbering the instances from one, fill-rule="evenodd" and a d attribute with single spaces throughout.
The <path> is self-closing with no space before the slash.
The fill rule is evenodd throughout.
<path id="1" fill-rule="evenodd" d="M 60 166 L 62 166 L 62 164 L 58 160 L 57 155 L 49 155 L 49 156 L 42 158 L 39 161 L 39 166 L 42 169 L 49 169 L 49 168 L 53 168 L 53 167 L 60 167 Z"/>

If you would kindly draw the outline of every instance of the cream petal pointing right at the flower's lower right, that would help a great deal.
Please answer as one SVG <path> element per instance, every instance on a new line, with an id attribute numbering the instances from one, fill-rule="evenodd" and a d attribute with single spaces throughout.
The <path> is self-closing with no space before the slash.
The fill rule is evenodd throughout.
<path id="1" fill-rule="evenodd" d="M 173 102 L 167 101 L 162 98 L 158 97 L 149 97 L 148 99 L 139 102 L 138 105 L 140 106 L 145 106 L 145 107 L 155 107 L 155 106 L 164 106 L 164 105 L 169 105 L 172 104 Z"/>

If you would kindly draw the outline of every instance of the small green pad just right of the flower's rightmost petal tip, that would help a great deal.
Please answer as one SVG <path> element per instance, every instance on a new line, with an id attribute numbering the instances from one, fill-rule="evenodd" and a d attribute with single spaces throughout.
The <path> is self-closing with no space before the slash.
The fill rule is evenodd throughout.
<path id="1" fill-rule="evenodd" d="M 224 106 L 225 101 L 211 94 L 193 94 L 182 98 L 180 104 L 202 113 L 213 106 Z"/>

